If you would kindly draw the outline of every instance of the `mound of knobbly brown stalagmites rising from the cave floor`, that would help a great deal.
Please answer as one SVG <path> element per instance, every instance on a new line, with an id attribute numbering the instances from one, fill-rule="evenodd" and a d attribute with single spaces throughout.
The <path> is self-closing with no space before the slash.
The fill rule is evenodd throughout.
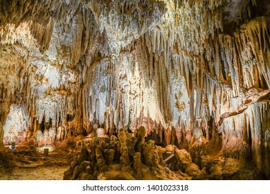
<path id="1" fill-rule="evenodd" d="M 145 141 L 144 127 L 134 133 L 119 130 L 110 138 L 99 136 L 95 132 L 78 141 L 78 154 L 64 179 L 226 179 L 240 170 L 235 159 L 207 155 L 198 166 L 187 150 Z M 167 161 L 170 156 L 174 159 Z"/>

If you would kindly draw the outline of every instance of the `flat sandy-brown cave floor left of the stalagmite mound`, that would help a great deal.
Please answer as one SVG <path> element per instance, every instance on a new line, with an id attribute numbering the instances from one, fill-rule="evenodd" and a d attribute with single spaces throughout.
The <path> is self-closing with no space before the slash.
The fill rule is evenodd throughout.
<path id="1" fill-rule="evenodd" d="M 5 155 L 9 164 L 0 169 L 0 180 L 62 180 L 69 168 L 69 159 L 63 150 L 50 152 L 46 159 L 38 150 L 6 151 Z"/>

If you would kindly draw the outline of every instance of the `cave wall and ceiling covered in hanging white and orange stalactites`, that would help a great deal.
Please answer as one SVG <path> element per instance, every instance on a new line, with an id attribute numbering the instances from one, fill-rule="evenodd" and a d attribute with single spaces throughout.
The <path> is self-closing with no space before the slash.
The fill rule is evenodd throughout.
<path id="1" fill-rule="evenodd" d="M 17 107 L 20 142 L 143 125 L 197 158 L 221 135 L 221 155 L 269 175 L 269 1 L 0 5 L 0 143 Z"/>

